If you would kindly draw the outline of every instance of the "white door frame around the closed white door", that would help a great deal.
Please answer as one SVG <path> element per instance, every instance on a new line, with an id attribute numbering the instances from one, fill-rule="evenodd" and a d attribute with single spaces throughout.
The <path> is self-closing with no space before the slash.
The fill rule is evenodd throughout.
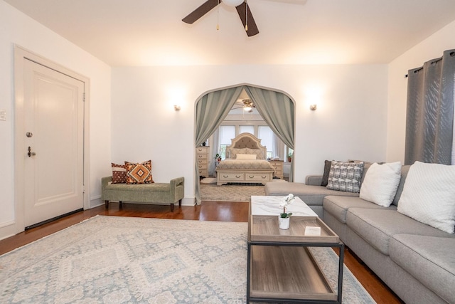
<path id="1" fill-rule="evenodd" d="M 25 159 L 26 153 L 24 117 L 25 109 L 23 103 L 24 96 L 24 78 L 23 78 L 23 62 L 25 60 L 33 61 L 47 68 L 55 70 L 59 73 L 68 75 L 71 78 L 82 81 L 84 83 L 84 117 L 83 117 L 83 200 L 84 209 L 89 209 L 90 204 L 90 79 L 76 73 L 73 70 L 65 68 L 63 65 L 50 61 L 47 58 L 39 56 L 36 53 L 26 50 L 21 46 L 14 45 L 14 224 L 16 233 L 25 229 Z"/>

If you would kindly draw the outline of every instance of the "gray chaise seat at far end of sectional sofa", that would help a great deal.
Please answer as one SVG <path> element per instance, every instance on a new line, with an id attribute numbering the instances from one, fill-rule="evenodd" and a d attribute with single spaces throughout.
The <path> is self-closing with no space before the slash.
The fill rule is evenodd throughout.
<path id="1" fill-rule="evenodd" d="M 265 195 L 298 196 L 309 206 L 322 206 L 323 198 L 327 195 L 358 196 L 358 193 L 329 190 L 326 187 L 311 186 L 294 182 L 267 182 L 264 187 Z"/>

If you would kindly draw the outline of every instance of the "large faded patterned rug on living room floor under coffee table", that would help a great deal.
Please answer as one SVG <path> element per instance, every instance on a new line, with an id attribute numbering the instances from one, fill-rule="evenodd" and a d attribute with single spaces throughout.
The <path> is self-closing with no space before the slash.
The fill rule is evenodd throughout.
<path id="1" fill-rule="evenodd" d="M 246 242 L 247 223 L 95 216 L 0 256 L 0 303 L 245 303 Z M 374 303 L 346 267 L 343 302 Z"/>

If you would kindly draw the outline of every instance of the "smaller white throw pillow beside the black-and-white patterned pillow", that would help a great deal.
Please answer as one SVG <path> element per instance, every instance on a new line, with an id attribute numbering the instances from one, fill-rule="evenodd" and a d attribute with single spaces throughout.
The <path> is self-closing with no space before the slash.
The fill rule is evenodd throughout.
<path id="1" fill-rule="evenodd" d="M 401 179 L 401 162 L 371 164 L 360 187 L 360 199 L 380 206 L 392 204 Z"/>

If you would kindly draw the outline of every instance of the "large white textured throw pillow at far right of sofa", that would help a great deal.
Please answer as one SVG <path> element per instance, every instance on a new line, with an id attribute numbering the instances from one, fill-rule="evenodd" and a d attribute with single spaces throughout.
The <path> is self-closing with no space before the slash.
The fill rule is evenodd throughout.
<path id="1" fill-rule="evenodd" d="M 415 162 L 407 173 L 398 212 L 454 233 L 455 166 Z"/>

